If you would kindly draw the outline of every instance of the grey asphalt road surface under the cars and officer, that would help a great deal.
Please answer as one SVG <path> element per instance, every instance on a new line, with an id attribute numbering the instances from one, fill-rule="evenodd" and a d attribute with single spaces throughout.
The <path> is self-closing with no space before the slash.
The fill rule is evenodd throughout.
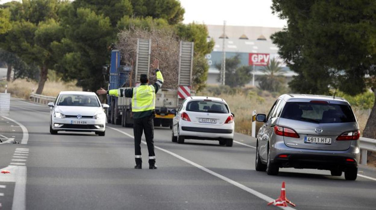
<path id="1" fill-rule="evenodd" d="M 375 209 L 375 169 L 361 166 L 356 181 L 309 169 L 269 176 L 255 171 L 256 142 L 243 134 L 233 147 L 181 145 L 171 142 L 171 130 L 156 128 L 156 170 L 147 169 L 144 144 L 144 169 L 133 169 L 132 128 L 51 135 L 49 108 L 14 98 L 0 134 L 0 168 L 11 172 L 0 174 L 1 209 L 279 209 L 267 202 L 282 181 L 295 209 Z M 13 140 L 19 144 L 6 143 Z"/>

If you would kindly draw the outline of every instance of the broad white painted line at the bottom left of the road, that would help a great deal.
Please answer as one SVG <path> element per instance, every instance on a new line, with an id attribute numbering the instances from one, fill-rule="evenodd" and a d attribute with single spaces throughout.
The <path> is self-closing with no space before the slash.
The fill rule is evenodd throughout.
<path id="1" fill-rule="evenodd" d="M 17 175 L 15 177 L 16 184 L 14 186 L 12 210 L 26 209 L 26 166 L 18 166 Z"/>

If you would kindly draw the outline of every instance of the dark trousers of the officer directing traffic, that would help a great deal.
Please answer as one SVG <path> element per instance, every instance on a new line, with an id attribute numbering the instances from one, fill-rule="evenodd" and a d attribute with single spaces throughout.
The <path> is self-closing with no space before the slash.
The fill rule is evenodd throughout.
<path id="1" fill-rule="evenodd" d="M 153 115 L 141 118 L 133 119 L 133 133 L 135 136 L 135 160 L 136 165 L 141 165 L 141 136 L 145 133 L 145 139 L 147 143 L 147 150 L 149 151 L 149 164 L 155 163 L 154 153 L 154 122 Z"/>

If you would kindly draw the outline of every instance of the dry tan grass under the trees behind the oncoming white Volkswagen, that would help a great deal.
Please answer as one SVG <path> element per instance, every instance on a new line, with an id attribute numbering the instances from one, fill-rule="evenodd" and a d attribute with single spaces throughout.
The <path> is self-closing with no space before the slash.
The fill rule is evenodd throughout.
<path id="1" fill-rule="evenodd" d="M 42 95 L 54 96 L 56 97 L 60 91 L 82 91 L 82 88 L 77 87 L 76 82 L 47 82 L 44 85 L 44 90 Z M 1 83 L 0 92 L 5 91 L 6 83 Z M 12 97 L 29 99 L 32 91 L 38 88 L 38 83 L 33 81 L 27 81 L 24 79 L 17 79 L 14 82 L 8 83 L 8 93 Z"/>

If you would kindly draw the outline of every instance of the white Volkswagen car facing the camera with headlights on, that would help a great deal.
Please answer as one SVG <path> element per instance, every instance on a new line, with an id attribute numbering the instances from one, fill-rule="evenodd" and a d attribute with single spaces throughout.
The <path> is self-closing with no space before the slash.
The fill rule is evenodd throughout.
<path id="1" fill-rule="evenodd" d="M 50 133 L 58 131 L 92 132 L 105 135 L 107 104 L 100 104 L 94 92 L 62 91 L 51 107 Z"/>

